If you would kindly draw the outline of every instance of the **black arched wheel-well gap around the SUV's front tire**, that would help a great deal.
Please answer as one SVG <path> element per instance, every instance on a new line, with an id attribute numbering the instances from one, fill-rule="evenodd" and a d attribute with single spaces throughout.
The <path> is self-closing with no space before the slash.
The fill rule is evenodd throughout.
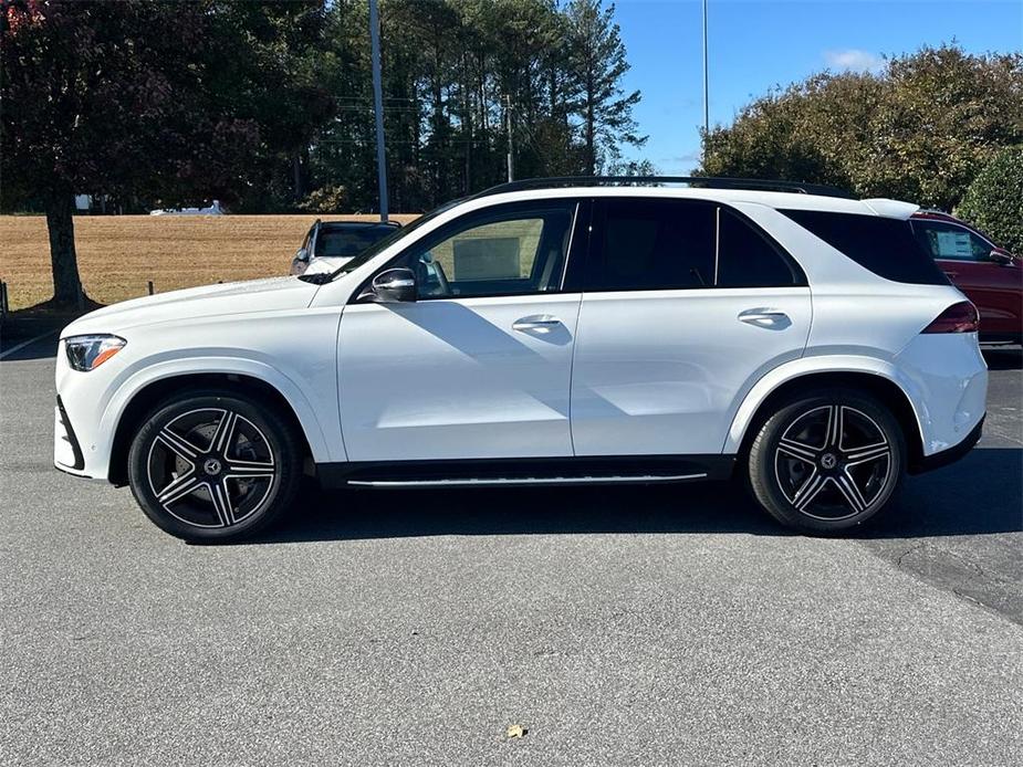
<path id="1" fill-rule="evenodd" d="M 111 442 L 107 480 L 115 485 L 127 484 L 128 450 L 132 438 L 143 419 L 160 402 L 173 395 L 189 391 L 219 389 L 233 395 L 246 395 L 283 416 L 301 437 L 304 455 L 312 456 L 310 435 L 295 408 L 281 391 L 255 376 L 237 372 L 185 372 L 150 380 L 135 390 L 121 410 L 114 439 Z"/>

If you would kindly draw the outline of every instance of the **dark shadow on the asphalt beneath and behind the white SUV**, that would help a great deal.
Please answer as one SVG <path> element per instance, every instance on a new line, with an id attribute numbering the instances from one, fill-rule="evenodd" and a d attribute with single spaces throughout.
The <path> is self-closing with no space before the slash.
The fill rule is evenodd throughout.
<path id="1" fill-rule="evenodd" d="M 896 506 L 859 537 L 912 538 L 1023 529 L 1023 450 L 974 450 L 907 479 Z M 739 483 L 610 487 L 307 491 L 299 513 L 247 543 L 437 535 L 792 535 Z"/>

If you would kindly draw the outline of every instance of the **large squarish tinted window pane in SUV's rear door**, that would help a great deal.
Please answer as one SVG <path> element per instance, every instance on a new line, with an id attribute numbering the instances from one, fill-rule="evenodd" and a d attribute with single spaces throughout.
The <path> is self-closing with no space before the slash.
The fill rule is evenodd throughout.
<path id="1" fill-rule="evenodd" d="M 714 207 L 700 202 L 608 199 L 598 220 L 587 290 L 711 287 Z"/>

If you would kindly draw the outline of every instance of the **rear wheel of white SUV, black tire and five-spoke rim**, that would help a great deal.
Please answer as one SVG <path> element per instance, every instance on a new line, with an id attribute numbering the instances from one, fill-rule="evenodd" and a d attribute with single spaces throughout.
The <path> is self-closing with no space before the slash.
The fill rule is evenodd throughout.
<path id="1" fill-rule="evenodd" d="M 763 422 L 748 470 L 753 496 L 780 523 L 842 533 L 876 519 L 895 497 L 906 473 L 906 438 L 869 395 L 807 392 Z"/>

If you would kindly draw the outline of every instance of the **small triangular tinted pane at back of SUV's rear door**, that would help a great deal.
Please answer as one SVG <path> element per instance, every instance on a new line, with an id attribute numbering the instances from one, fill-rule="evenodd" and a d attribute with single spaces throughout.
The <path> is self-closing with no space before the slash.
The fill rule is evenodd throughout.
<path id="1" fill-rule="evenodd" d="M 721 209 L 718 229 L 718 287 L 803 285 L 777 245 L 735 213 Z"/>

